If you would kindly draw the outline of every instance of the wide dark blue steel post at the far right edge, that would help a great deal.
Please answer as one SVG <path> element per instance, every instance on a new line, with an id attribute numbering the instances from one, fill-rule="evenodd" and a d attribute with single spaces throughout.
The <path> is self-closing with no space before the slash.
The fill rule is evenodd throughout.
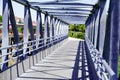
<path id="1" fill-rule="evenodd" d="M 120 29 L 120 0 L 110 0 L 110 66 L 118 74 L 118 55 L 119 55 L 119 29 Z M 112 80 L 112 78 L 111 78 Z"/>

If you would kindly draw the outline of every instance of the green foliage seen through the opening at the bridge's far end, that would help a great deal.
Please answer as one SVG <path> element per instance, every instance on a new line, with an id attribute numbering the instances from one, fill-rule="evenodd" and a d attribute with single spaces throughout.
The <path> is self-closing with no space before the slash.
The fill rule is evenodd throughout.
<path id="1" fill-rule="evenodd" d="M 69 26 L 69 36 L 70 37 L 84 39 L 84 34 L 85 34 L 85 25 L 73 24 L 73 25 Z"/>

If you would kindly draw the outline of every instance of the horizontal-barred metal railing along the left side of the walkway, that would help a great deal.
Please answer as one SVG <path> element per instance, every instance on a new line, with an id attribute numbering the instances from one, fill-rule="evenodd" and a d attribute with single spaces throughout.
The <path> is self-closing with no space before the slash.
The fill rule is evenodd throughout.
<path id="1" fill-rule="evenodd" d="M 0 66 L 7 63 L 8 64 L 7 68 L 9 68 L 17 64 L 18 62 L 21 62 L 21 60 L 24 60 L 31 55 L 37 54 L 40 51 L 43 51 L 46 48 L 49 48 L 55 45 L 56 43 L 59 43 L 60 41 L 64 40 L 67 37 L 68 37 L 67 35 L 61 36 L 61 37 L 53 36 L 53 37 L 48 37 L 46 39 L 41 38 L 39 40 L 28 41 L 27 43 L 18 43 L 18 44 L 10 45 L 7 47 L 1 47 L 0 51 L 7 50 L 8 52 L 7 54 L 0 55 L 0 59 L 1 59 Z M 46 43 L 44 42 L 44 40 L 46 40 Z M 27 47 L 24 48 L 24 45 L 27 45 Z M 25 50 L 25 53 L 24 53 L 24 50 Z M 6 56 L 8 57 L 8 59 L 5 61 L 2 61 L 2 58 Z M 7 68 L 5 68 L 5 70 Z M 3 70 L 1 69 L 0 72 L 2 71 Z"/>

